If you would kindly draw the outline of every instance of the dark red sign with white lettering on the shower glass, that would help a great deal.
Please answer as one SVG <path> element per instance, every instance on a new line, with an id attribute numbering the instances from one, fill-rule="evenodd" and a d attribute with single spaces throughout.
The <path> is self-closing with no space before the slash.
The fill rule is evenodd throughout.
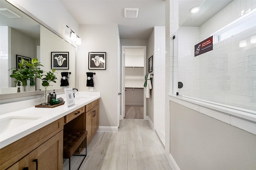
<path id="1" fill-rule="evenodd" d="M 211 51 L 213 49 L 212 40 L 213 36 L 195 45 L 195 57 L 200 54 L 204 54 L 208 51 Z"/>

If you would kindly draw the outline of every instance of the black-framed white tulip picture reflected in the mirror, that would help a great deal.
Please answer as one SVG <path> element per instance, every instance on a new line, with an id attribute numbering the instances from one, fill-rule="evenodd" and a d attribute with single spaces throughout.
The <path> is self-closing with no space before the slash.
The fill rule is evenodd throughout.
<path id="1" fill-rule="evenodd" d="M 52 52 L 52 69 L 68 69 L 69 52 Z"/>

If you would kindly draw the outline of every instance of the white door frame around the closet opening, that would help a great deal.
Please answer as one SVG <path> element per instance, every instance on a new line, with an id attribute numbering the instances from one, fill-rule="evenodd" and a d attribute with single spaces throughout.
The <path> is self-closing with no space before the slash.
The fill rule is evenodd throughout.
<path id="1" fill-rule="evenodd" d="M 125 81 L 124 81 L 124 75 L 125 75 L 125 71 L 124 71 L 124 59 L 125 59 L 125 53 L 124 53 L 124 49 L 144 49 L 144 75 L 146 74 L 146 56 L 147 56 L 147 47 L 146 46 L 126 46 L 126 45 L 122 45 L 121 46 L 121 89 L 122 89 L 122 96 L 121 96 L 121 115 L 120 115 L 120 120 L 124 119 L 125 116 Z M 144 105 L 144 116 L 143 119 L 146 120 L 146 96 L 145 96 L 145 88 L 143 90 L 144 95 L 143 95 L 143 105 Z"/>

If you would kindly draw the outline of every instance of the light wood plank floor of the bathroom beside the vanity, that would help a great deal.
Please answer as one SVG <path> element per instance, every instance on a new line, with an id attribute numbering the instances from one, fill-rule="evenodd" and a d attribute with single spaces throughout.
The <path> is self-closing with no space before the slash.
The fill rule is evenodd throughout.
<path id="1" fill-rule="evenodd" d="M 84 152 L 85 153 L 85 152 Z M 82 156 L 72 156 L 71 169 L 76 170 Z M 64 159 L 63 170 L 68 170 Z M 74 166 L 74 164 L 76 164 Z M 156 133 L 143 119 L 123 119 L 119 131 L 97 132 L 88 145 L 80 170 L 172 170 L 164 147 Z"/>

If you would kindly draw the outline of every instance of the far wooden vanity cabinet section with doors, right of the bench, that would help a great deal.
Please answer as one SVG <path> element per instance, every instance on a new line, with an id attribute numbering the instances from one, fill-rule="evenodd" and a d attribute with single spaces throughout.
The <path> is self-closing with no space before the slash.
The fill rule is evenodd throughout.
<path id="1" fill-rule="evenodd" d="M 86 105 L 87 144 L 99 129 L 99 99 Z"/>

